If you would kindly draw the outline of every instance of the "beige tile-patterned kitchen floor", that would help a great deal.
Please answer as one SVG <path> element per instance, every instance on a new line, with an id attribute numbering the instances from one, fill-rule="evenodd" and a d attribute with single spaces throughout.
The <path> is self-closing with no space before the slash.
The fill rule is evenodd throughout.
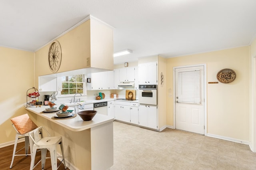
<path id="1" fill-rule="evenodd" d="M 256 170 L 248 145 L 200 134 L 156 132 L 114 121 L 110 170 Z"/>

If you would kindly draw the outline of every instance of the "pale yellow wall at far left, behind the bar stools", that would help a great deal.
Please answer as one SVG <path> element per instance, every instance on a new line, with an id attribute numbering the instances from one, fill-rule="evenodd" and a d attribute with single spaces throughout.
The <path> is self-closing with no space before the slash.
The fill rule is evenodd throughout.
<path id="1" fill-rule="evenodd" d="M 27 90 L 34 86 L 34 53 L 0 47 L 0 56 L 0 144 L 4 144 L 15 139 L 10 119 L 27 113 L 24 104 Z"/>

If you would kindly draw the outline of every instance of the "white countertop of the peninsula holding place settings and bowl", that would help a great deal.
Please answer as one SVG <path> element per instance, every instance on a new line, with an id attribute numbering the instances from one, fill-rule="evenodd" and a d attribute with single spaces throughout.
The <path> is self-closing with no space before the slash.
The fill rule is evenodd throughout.
<path id="1" fill-rule="evenodd" d="M 59 105 L 56 105 L 59 107 Z M 49 106 L 41 106 L 41 107 L 28 107 L 26 108 L 28 111 L 31 111 L 49 121 L 52 121 L 62 127 L 65 127 L 72 131 L 82 131 L 88 128 L 96 127 L 98 125 L 102 125 L 104 123 L 108 123 L 114 121 L 113 118 L 108 117 L 106 115 L 96 114 L 91 121 L 83 121 L 79 115 L 71 119 L 64 119 L 64 120 L 55 120 L 52 119 L 56 115 L 56 113 L 46 113 L 42 114 L 41 112 L 45 110 L 45 108 L 49 108 Z"/>

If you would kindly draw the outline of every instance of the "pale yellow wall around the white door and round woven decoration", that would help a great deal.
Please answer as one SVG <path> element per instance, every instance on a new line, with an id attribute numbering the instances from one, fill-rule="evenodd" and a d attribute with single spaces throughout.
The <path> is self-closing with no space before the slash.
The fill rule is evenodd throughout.
<path id="1" fill-rule="evenodd" d="M 173 89 L 173 67 L 206 64 L 208 134 L 249 141 L 249 51 L 246 46 L 166 60 L 166 89 Z M 235 81 L 208 84 L 224 68 L 236 72 Z M 166 97 L 166 110 L 167 125 L 173 126 L 173 97 Z"/>

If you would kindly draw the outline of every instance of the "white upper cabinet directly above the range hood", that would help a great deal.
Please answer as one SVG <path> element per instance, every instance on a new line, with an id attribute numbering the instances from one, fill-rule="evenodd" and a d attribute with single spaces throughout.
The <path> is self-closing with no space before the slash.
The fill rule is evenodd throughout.
<path id="1" fill-rule="evenodd" d="M 135 79 L 135 68 L 125 67 L 119 69 L 119 82 L 131 82 Z"/>

